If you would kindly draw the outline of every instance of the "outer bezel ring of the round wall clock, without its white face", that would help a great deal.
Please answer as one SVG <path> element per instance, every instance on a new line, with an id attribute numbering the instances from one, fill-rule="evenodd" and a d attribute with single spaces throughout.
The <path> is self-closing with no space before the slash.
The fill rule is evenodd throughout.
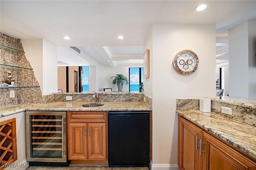
<path id="1" fill-rule="evenodd" d="M 178 60 L 178 57 L 184 53 L 188 53 L 188 54 L 191 54 L 195 57 L 196 59 L 196 65 L 195 67 L 193 68 L 193 70 L 190 70 L 190 71 L 182 71 L 180 70 L 180 68 L 178 67 L 178 64 L 177 64 L 177 60 Z M 198 56 L 196 55 L 196 53 L 194 53 L 193 51 L 191 50 L 182 50 L 180 52 L 178 52 L 176 54 L 176 56 L 173 58 L 173 61 L 172 61 L 172 64 L 173 64 L 173 68 L 176 72 L 178 72 L 179 74 L 182 74 L 182 75 L 187 75 L 187 74 L 192 74 L 193 72 L 196 71 L 196 69 L 198 68 L 198 64 L 199 64 L 199 59 L 198 59 Z"/>

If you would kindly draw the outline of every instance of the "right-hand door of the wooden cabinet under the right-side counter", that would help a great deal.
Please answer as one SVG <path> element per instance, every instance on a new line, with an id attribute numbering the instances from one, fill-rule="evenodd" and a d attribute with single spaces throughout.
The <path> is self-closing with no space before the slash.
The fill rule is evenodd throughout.
<path id="1" fill-rule="evenodd" d="M 204 170 L 255 170 L 256 164 L 228 144 L 203 133 Z"/>

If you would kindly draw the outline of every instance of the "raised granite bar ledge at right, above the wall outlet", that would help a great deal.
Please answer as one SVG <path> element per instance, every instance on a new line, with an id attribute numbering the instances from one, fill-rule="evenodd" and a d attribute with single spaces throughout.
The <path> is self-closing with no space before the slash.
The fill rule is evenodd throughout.
<path id="1" fill-rule="evenodd" d="M 221 97 L 207 97 L 213 101 L 233 104 L 236 106 L 248 107 L 251 109 L 256 109 L 256 99 L 248 99 L 248 98 L 238 98 L 238 97 L 228 97 L 228 96 L 221 96 Z"/>

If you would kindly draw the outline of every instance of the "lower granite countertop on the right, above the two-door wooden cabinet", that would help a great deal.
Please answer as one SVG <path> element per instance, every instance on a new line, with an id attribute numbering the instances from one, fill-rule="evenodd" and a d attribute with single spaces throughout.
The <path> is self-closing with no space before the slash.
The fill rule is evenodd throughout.
<path id="1" fill-rule="evenodd" d="M 176 110 L 176 113 L 256 158 L 256 127 L 212 112 Z"/>

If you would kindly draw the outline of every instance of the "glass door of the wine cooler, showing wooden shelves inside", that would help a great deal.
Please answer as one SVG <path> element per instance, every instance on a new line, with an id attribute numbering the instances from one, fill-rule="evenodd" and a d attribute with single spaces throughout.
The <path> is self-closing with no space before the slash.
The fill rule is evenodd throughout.
<path id="1" fill-rule="evenodd" d="M 65 159 L 66 124 L 63 115 L 36 114 L 29 117 L 31 160 L 34 158 L 42 162 L 60 162 L 61 159 Z M 58 159 L 59 161 L 56 161 Z"/>

